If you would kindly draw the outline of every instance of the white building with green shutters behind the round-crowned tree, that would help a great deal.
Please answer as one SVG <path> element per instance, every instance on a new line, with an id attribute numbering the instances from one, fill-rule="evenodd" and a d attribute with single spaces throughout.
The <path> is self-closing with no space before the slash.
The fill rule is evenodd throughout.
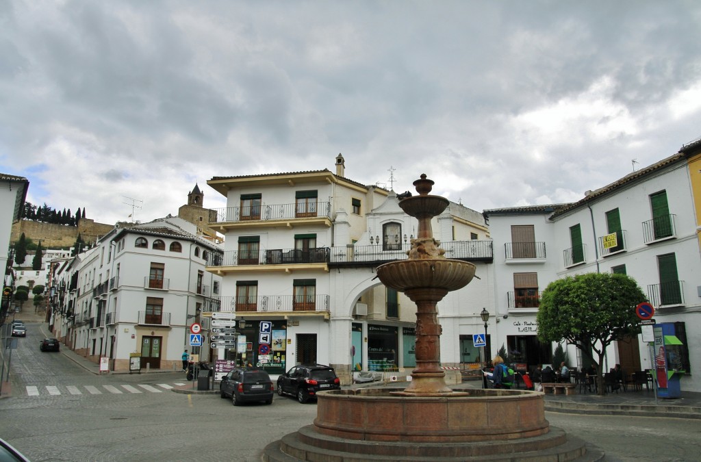
<path id="1" fill-rule="evenodd" d="M 512 362 L 548 362 L 552 346 L 536 338 L 545 287 L 580 273 L 625 273 L 648 295 L 655 320 L 674 322 L 686 344 L 682 388 L 701 391 L 688 376 L 701 367 L 701 358 L 688 351 L 701 341 L 693 328 L 701 307 L 699 144 L 587 191 L 576 203 L 485 210 L 495 248 L 494 347 L 508 348 Z M 565 348 L 572 366 L 588 365 L 576 348 Z M 615 364 L 630 372 L 654 367 L 641 336 L 615 342 L 606 361 L 606 371 Z"/>

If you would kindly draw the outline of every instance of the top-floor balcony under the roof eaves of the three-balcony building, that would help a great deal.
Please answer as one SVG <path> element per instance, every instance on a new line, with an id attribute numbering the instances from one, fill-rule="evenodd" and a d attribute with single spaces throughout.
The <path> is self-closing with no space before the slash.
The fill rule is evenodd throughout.
<path id="1" fill-rule="evenodd" d="M 331 203 L 311 202 L 304 205 L 275 204 L 260 205 L 257 207 L 226 207 L 212 209 L 216 212 L 215 222 L 210 222 L 211 227 L 225 229 L 233 224 L 254 223 L 256 226 L 279 226 L 280 222 L 304 219 L 305 223 L 317 221 L 331 223 Z"/>

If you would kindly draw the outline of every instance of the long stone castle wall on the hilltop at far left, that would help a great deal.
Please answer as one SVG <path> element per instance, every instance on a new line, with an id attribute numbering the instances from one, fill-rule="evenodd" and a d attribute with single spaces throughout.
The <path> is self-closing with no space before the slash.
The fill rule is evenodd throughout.
<path id="1" fill-rule="evenodd" d="M 81 218 L 78 226 L 65 226 L 63 224 L 33 222 L 21 220 L 13 223 L 10 242 L 15 243 L 25 233 L 25 237 L 31 238 L 34 243 L 41 239 L 42 247 L 72 247 L 76 243 L 78 234 L 83 242 L 94 243 L 97 238 L 104 236 L 111 229 L 112 224 L 95 223 L 95 220 Z"/>

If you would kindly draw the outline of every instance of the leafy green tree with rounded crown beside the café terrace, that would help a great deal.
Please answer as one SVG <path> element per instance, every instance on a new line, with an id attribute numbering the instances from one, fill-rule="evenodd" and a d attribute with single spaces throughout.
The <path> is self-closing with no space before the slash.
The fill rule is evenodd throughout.
<path id="1" fill-rule="evenodd" d="M 642 301 L 645 294 L 625 274 L 585 273 L 554 280 L 540 299 L 538 339 L 579 348 L 598 365 L 599 395 L 604 395 L 601 364 L 606 347 L 639 334 L 635 306 Z"/>

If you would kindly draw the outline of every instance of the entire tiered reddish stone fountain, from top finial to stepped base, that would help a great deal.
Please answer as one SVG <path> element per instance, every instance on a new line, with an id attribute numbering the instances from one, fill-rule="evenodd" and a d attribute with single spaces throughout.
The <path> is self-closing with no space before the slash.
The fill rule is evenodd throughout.
<path id="1" fill-rule="evenodd" d="M 543 393 L 453 390 L 440 367 L 437 303 L 475 276 L 475 265 L 447 259 L 431 219 L 449 201 L 414 182 L 418 196 L 399 205 L 418 219 L 409 259 L 377 268 L 387 287 L 416 304 L 416 369 L 404 390 L 358 388 L 318 394 L 313 425 L 268 444 L 264 461 L 597 461 L 603 451 L 545 419 Z"/>

